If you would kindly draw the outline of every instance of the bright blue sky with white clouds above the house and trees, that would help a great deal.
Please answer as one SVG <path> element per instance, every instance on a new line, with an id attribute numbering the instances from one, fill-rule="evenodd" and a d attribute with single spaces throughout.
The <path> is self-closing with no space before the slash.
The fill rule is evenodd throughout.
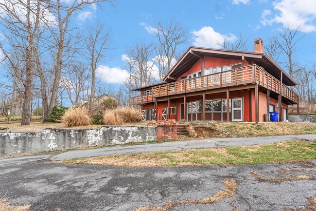
<path id="1" fill-rule="evenodd" d="M 249 51 L 254 39 L 267 43 L 283 26 L 300 25 L 306 35 L 295 58 L 301 64 L 316 61 L 316 0 L 117 0 L 114 7 L 102 5 L 103 10 L 81 12 L 77 21 L 84 25 L 99 20 L 112 31 L 114 49 L 99 68 L 107 83 L 119 83 L 124 77 L 122 55 L 128 47 L 141 40 L 156 41 L 150 27 L 157 21 L 177 21 L 190 33 L 191 40 L 181 49 L 191 45 L 219 48 L 214 43 L 224 38 L 233 41 L 241 33 L 248 39 Z"/>

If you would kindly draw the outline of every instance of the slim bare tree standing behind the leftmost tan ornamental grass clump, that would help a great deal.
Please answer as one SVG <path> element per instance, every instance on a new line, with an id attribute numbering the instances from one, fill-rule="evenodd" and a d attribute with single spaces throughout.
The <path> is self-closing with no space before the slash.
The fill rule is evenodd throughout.
<path id="1" fill-rule="evenodd" d="M 105 31 L 104 25 L 97 22 L 95 25 L 87 27 L 87 33 L 88 36 L 85 39 L 85 57 L 90 64 L 92 79 L 90 97 L 88 97 L 89 110 L 91 112 L 93 111 L 92 102 L 95 96 L 95 71 L 99 62 L 105 58 L 105 50 L 110 47 L 110 31 Z"/>

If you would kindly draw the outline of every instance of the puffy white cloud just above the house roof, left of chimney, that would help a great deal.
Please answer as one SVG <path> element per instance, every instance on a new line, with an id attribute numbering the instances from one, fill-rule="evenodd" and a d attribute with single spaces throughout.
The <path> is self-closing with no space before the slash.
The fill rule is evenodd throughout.
<path id="1" fill-rule="evenodd" d="M 228 33 L 222 35 L 215 32 L 211 26 L 204 26 L 198 31 L 192 31 L 193 45 L 198 47 L 219 48 L 218 44 L 223 44 L 225 40 L 234 42 L 237 37 L 234 34 Z"/>

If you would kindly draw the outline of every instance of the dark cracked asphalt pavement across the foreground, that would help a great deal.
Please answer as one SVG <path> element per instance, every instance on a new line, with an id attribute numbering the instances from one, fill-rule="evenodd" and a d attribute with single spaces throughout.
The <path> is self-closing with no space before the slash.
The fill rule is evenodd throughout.
<path id="1" fill-rule="evenodd" d="M 228 167 L 116 167 L 65 165 L 42 160 L 0 166 L 0 196 L 13 205 L 31 204 L 33 211 L 133 211 L 163 202 L 201 200 L 224 190 L 226 178 L 237 183 L 236 194 L 212 204 L 186 204 L 173 211 L 284 211 L 300 209 L 316 194 L 316 180 L 260 182 L 264 178 L 308 175 L 310 165 L 261 164 Z M 8 158 L 13 159 L 13 158 Z M 7 159 L 7 160 L 8 160 Z"/>

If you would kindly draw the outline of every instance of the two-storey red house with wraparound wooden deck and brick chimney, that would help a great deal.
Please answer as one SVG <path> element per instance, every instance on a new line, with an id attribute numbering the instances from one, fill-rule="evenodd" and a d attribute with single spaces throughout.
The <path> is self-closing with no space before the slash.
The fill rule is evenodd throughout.
<path id="1" fill-rule="evenodd" d="M 133 100 L 141 105 L 143 121 L 259 122 L 271 111 L 286 120 L 287 106 L 298 104 L 287 86 L 297 83 L 263 53 L 261 38 L 254 45 L 254 53 L 190 47 L 164 82 L 133 90 L 140 91 Z"/>

